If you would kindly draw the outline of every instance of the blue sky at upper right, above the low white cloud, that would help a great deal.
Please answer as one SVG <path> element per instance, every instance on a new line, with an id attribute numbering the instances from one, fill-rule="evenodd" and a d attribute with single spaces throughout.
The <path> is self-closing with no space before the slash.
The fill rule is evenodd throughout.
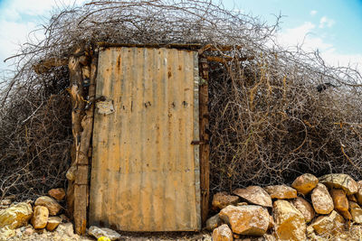
<path id="1" fill-rule="evenodd" d="M 362 0 L 235 0 L 224 1 L 224 5 L 232 7 L 232 2 L 243 13 L 259 15 L 270 23 L 275 19 L 272 14 L 285 15 L 281 32 L 313 23 L 316 27 L 310 34 L 333 44 L 338 52 L 362 52 Z"/>

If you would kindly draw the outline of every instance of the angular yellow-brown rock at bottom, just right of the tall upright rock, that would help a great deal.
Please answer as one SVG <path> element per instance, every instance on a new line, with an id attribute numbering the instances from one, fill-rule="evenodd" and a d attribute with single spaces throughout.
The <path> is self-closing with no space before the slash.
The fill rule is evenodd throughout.
<path id="1" fill-rule="evenodd" d="M 336 235 L 343 231 L 344 218 L 333 210 L 329 216 L 320 216 L 311 225 L 319 236 Z"/>

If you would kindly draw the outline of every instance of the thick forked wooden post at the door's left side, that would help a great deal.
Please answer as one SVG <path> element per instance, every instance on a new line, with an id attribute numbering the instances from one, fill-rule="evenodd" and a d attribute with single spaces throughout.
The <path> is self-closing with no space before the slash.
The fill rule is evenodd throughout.
<path id="1" fill-rule="evenodd" d="M 72 99 L 72 134 L 75 147 L 75 162 L 72 168 L 75 169 L 75 180 L 73 183 L 73 218 L 75 231 L 84 235 L 87 227 L 87 209 L 89 205 L 89 150 L 90 140 L 93 131 L 94 97 L 96 92 L 97 57 L 93 57 L 90 64 L 90 86 L 88 97 L 83 93 L 83 78 L 81 62 L 84 56 L 75 57 L 69 60 L 71 78 L 70 94 Z M 81 59 L 82 58 L 82 59 Z M 83 69 L 84 70 L 84 69 Z M 86 103 L 88 102 L 88 107 Z M 75 168 L 74 168 L 75 167 Z"/>

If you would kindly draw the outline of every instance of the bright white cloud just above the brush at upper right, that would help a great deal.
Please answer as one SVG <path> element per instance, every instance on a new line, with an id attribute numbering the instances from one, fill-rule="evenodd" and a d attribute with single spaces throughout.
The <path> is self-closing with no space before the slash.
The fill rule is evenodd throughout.
<path id="1" fill-rule="evenodd" d="M 351 66 L 354 68 L 357 67 L 358 70 L 362 70 L 362 53 L 340 53 L 336 46 L 326 42 L 318 32 L 319 29 L 315 24 L 306 22 L 278 34 L 277 42 L 290 50 L 296 46 L 299 46 L 304 51 L 318 50 L 322 58 L 332 66 Z"/>

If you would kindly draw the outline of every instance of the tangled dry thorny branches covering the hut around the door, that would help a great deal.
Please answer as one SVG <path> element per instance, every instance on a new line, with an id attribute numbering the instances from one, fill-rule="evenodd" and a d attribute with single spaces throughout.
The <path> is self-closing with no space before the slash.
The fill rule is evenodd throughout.
<path id="1" fill-rule="evenodd" d="M 361 178 L 360 74 L 327 66 L 318 52 L 282 49 L 274 43 L 278 21 L 268 26 L 211 0 L 90 1 L 60 10 L 41 42 L 22 46 L 14 78 L 1 85 L 2 195 L 64 185 L 68 70 L 34 67 L 97 42 L 233 46 L 208 52 L 225 60 L 211 62 L 208 83 L 212 190 L 288 182 L 301 172 Z"/>

